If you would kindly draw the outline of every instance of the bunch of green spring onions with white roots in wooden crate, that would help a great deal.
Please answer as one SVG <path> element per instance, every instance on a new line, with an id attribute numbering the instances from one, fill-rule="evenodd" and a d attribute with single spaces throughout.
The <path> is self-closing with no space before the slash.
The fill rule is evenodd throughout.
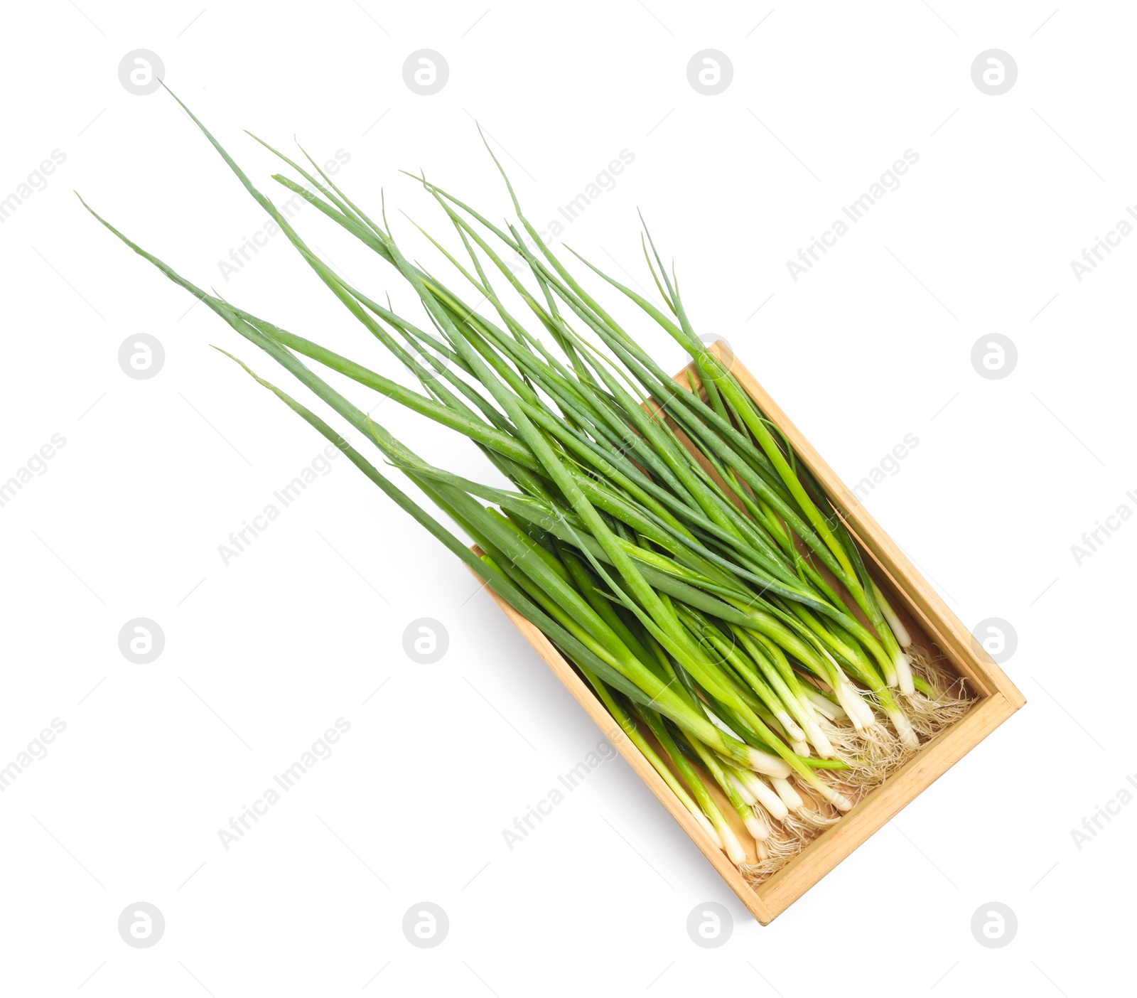
<path id="1" fill-rule="evenodd" d="M 735 863 L 756 875 L 777 868 L 965 709 L 912 646 L 818 482 L 696 334 L 650 236 L 645 258 L 666 311 L 580 263 L 687 350 L 686 383 L 546 246 L 504 171 L 521 228 L 416 178 L 460 243 L 451 253 L 431 239 L 459 290 L 402 255 L 385 210 L 373 221 L 302 149 L 310 171 L 262 143 L 305 183 L 276 182 L 409 282 L 428 319 L 416 324 L 333 273 L 190 117 L 422 390 L 207 293 L 96 218 L 356 427 L 476 543 L 481 555 L 322 416 L 246 367 L 549 637 Z M 470 297 L 487 302 L 482 311 Z M 323 368 L 468 438 L 511 486 L 434 466 Z"/>

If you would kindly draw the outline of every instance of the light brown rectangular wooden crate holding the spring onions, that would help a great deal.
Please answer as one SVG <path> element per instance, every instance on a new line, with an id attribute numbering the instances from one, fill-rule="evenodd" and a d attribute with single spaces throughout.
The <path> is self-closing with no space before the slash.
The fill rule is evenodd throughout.
<path id="1" fill-rule="evenodd" d="M 947 659 L 960 675 L 966 677 L 969 689 L 976 696 L 968 713 L 923 745 L 904 766 L 880 787 L 871 790 L 837 824 L 810 842 L 786 866 L 757 887 L 752 887 L 725 854 L 707 839 L 687 808 L 679 802 L 639 749 L 623 735 L 591 688 L 549 639 L 496 594 L 493 598 L 629 765 L 647 783 L 671 816 L 690 835 L 730 889 L 738 895 L 754 917 L 766 925 L 1006 721 L 1026 702 L 1026 698 L 972 639 L 968 629 L 916 572 L 877 521 L 861 506 L 854 493 L 841 483 L 833 469 L 822 460 L 821 455 L 810 446 L 762 385 L 741 363 L 733 358 L 727 344 L 720 341 L 712 347 L 712 350 L 725 363 L 732 364 L 731 372 L 739 383 L 749 392 L 766 417 L 786 434 L 798 460 L 813 472 L 828 493 L 833 508 L 845 519 L 864 554 L 870 573 L 907 626 L 914 642 Z M 677 380 L 684 388 L 688 384 L 687 373 L 692 369 L 694 367 L 686 368 L 677 375 Z M 721 798 L 721 802 L 728 820 L 737 818 L 724 798 Z M 737 826 L 741 829 L 740 823 Z"/>

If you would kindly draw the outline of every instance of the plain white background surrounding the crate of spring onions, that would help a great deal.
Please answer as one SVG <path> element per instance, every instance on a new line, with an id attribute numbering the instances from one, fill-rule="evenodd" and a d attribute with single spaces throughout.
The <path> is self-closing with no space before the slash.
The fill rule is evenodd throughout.
<path id="1" fill-rule="evenodd" d="M 1070 261 L 1137 199 L 1134 11 L 202 2 L 5 13 L 0 198 L 66 156 L 0 226 L 0 479 L 66 440 L 0 508 L 0 766 L 66 723 L 0 795 L 5 992 L 1131 989 L 1137 807 L 1080 850 L 1071 830 L 1137 772 L 1137 525 L 1080 566 L 1071 544 L 1137 509 L 1137 239 L 1081 282 Z M 121 85 L 136 48 L 264 190 L 281 190 L 276 164 L 242 128 L 289 150 L 296 134 L 321 161 L 342 149 L 346 190 L 377 210 L 382 188 L 397 235 L 439 268 L 398 213 L 451 241 L 445 219 L 398 171 L 499 218 L 475 118 L 539 224 L 628 150 L 565 241 L 646 283 L 642 209 L 698 331 L 733 344 L 846 481 L 915 434 L 866 505 L 969 627 L 1011 622 L 1028 706 L 765 929 L 622 760 L 511 851 L 503 830 L 600 735 L 466 569 L 342 459 L 227 567 L 218 555 L 324 441 L 209 347 L 283 379 L 271 361 L 186 311 L 72 189 L 201 285 L 401 375 L 283 238 L 225 281 L 218 261 L 265 216 L 168 95 Z M 402 82 L 422 48 L 449 65 L 433 97 Z M 706 48 L 733 65 L 716 97 L 687 80 Z M 1018 64 L 1001 97 L 971 80 L 990 48 Z M 906 149 L 902 186 L 795 283 L 786 261 Z M 310 208 L 297 225 L 409 314 L 390 267 Z M 638 332 L 678 369 L 674 344 Z M 117 361 L 140 333 L 165 349 L 147 381 Z M 971 365 L 990 333 L 1018 348 L 1003 380 Z M 393 404 L 376 418 L 481 472 Z M 133 617 L 165 633 L 149 665 L 119 652 Z M 434 665 L 402 650 L 420 617 L 449 634 Z M 339 717 L 331 758 L 226 851 L 218 830 Z M 166 920 L 149 949 L 116 928 L 140 900 Z M 401 931 L 423 900 L 450 922 L 434 949 Z M 733 913 L 717 949 L 686 931 L 705 901 Z M 971 934 L 988 901 L 1018 915 L 1002 949 Z"/>

